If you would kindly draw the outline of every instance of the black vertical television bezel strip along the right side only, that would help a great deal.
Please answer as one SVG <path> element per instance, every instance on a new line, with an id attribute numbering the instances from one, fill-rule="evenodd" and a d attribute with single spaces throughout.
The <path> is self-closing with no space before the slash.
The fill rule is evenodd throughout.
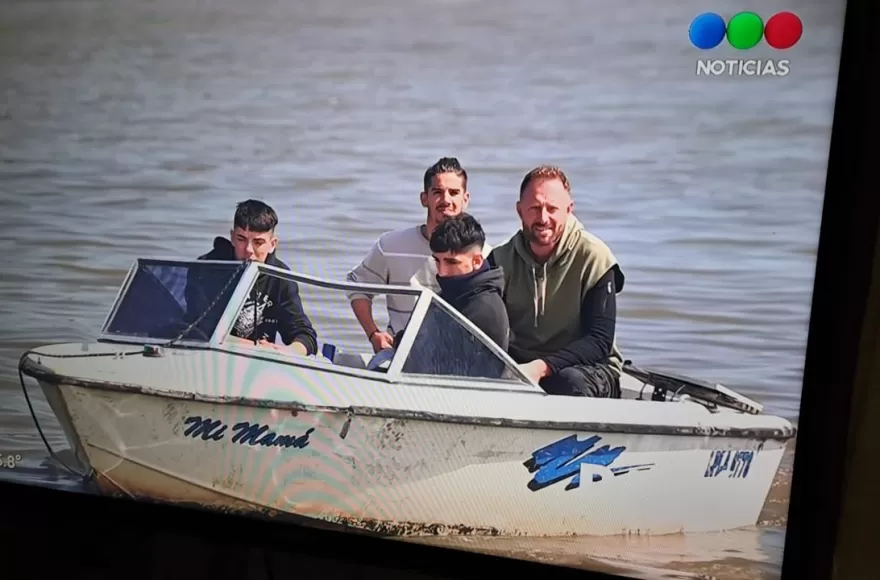
<path id="1" fill-rule="evenodd" d="M 880 134 L 875 111 L 880 59 L 871 40 L 877 17 L 876 1 L 847 2 L 782 564 L 785 579 L 827 578 L 833 570 L 880 215 L 876 177 L 868 174 L 876 163 L 876 147 L 872 151 L 871 146 Z"/>

